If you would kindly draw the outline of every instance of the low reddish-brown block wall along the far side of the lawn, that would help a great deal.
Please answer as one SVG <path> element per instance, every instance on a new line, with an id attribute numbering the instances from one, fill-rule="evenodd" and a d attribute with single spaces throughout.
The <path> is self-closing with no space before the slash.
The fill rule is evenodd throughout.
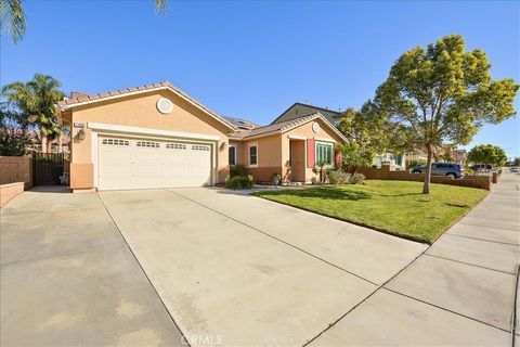
<path id="1" fill-rule="evenodd" d="M 411 174 L 408 171 L 392 170 L 390 166 L 381 168 L 358 168 L 358 172 L 365 175 L 367 180 L 399 180 L 399 181 L 425 181 L 425 174 Z M 494 172 L 496 174 L 496 172 Z M 498 181 L 498 175 L 494 176 L 465 176 L 463 179 L 452 179 L 447 176 L 432 176 L 431 183 L 469 187 L 491 190 L 492 182 Z"/>

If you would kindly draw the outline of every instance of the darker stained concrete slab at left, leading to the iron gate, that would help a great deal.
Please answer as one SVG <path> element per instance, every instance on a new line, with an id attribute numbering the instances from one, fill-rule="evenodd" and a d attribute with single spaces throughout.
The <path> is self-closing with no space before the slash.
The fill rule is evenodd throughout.
<path id="1" fill-rule="evenodd" d="M 29 191 L 0 214 L 1 346 L 182 346 L 96 194 Z"/>

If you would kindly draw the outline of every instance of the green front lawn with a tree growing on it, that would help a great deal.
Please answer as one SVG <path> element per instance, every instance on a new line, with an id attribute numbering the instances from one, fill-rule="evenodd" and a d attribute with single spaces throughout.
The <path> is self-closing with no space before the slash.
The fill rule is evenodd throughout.
<path id="1" fill-rule="evenodd" d="M 368 180 L 356 185 L 322 185 L 260 191 L 253 195 L 405 239 L 432 243 L 487 195 L 472 188 Z"/>

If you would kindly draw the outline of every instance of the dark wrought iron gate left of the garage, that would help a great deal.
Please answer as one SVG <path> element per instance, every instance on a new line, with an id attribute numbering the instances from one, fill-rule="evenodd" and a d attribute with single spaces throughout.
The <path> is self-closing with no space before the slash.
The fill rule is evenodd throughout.
<path id="1" fill-rule="evenodd" d="M 32 184 L 61 184 L 65 153 L 35 153 L 32 155 Z"/>

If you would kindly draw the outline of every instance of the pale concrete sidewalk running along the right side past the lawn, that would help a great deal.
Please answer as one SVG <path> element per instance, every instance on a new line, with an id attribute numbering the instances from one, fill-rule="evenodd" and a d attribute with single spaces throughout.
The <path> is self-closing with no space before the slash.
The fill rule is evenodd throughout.
<path id="1" fill-rule="evenodd" d="M 470 214 L 311 345 L 510 346 L 519 178 L 504 174 Z M 517 336 L 519 324 L 517 317 Z"/>

